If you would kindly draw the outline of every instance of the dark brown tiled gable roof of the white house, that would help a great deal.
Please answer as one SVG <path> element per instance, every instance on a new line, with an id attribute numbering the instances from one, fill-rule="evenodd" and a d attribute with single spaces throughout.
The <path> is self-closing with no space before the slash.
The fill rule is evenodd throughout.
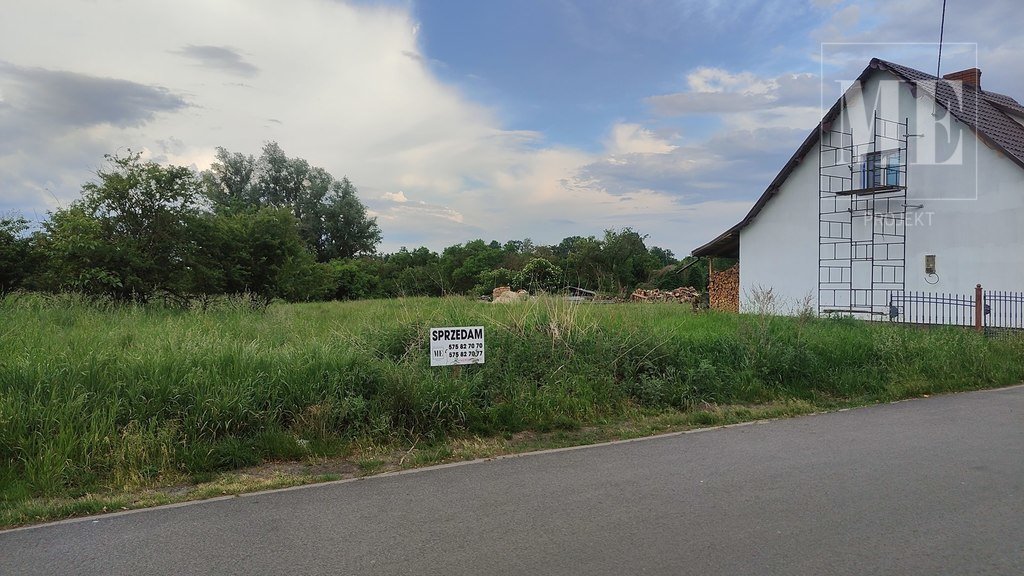
<path id="1" fill-rule="evenodd" d="M 1007 113 L 1024 115 L 1024 106 L 1021 106 L 1020 102 L 1006 94 L 989 92 L 982 90 L 980 86 L 970 84 L 963 84 L 962 97 L 957 97 L 953 90 L 953 85 L 949 82 L 943 81 L 931 74 L 921 72 L 920 70 L 879 58 L 871 58 L 867 68 L 857 77 L 857 82 L 862 83 L 867 77 L 880 70 L 894 74 L 897 78 L 909 84 L 912 90 L 924 90 L 925 93 L 932 96 L 943 108 L 948 110 L 954 118 L 966 124 L 979 138 L 991 148 L 1006 154 L 1008 158 L 1024 169 L 1024 125 L 1007 115 Z M 961 106 L 958 108 L 946 106 L 946 102 L 950 101 L 958 101 Z M 754 203 L 754 207 L 743 216 L 743 219 L 722 233 L 715 240 L 694 249 L 690 253 L 694 256 L 739 257 L 739 231 L 751 223 L 764 208 L 765 204 L 778 193 L 782 182 L 790 177 L 793 170 L 804 161 L 808 152 L 818 141 L 818 135 L 828 129 L 828 126 L 842 110 L 843 96 L 836 100 L 836 104 L 824 115 L 821 122 L 811 130 L 811 133 L 808 134 L 793 157 L 782 166 L 778 175 L 768 184 L 768 188 L 765 189 L 761 197 Z"/>

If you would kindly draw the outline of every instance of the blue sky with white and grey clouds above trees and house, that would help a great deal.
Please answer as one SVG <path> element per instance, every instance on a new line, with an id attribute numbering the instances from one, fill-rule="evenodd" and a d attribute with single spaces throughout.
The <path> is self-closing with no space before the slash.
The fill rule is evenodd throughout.
<path id="1" fill-rule="evenodd" d="M 44 218 L 108 153 L 205 169 L 274 140 L 358 187 L 383 251 L 633 227 L 683 255 L 745 213 L 833 80 L 871 56 L 934 72 L 942 2 L 3 6 L 0 214 Z M 943 72 L 977 61 L 1024 99 L 1018 11 L 949 0 L 966 44 Z"/>

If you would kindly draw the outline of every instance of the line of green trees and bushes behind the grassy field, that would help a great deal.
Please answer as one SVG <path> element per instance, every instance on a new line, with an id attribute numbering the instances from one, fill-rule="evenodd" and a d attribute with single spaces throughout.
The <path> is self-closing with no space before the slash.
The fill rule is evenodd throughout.
<path id="1" fill-rule="evenodd" d="M 707 285 L 703 262 L 679 273 L 671 250 L 629 228 L 603 236 L 473 240 L 440 253 L 379 254 L 381 231 L 347 177 L 336 179 L 275 142 L 260 156 L 217 150 L 202 173 L 106 157 L 80 199 L 26 234 L 0 217 L 0 293 L 77 292 L 181 302 L 222 294 L 261 301 L 483 294 L 498 286 L 611 294 Z"/>

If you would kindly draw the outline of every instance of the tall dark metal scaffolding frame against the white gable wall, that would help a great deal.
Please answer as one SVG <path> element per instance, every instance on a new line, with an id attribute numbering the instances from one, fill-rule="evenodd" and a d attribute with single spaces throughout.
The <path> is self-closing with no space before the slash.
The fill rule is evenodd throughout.
<path id="1" fill-rule="evenodd" d="M 889 313 L 905 288 L 908 120 L 874 113 L 870 137 L 822 127 L 818 153 L 818 312 Z"/>

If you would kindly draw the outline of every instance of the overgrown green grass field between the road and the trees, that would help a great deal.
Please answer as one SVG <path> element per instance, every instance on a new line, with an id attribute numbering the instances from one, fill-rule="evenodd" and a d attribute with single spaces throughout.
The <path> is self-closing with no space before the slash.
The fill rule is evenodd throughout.
<path id="1" fill-rule="evenodd" d="M 460 325 L 485 326 L 486 364 L 431 368 L 428 328 Z M 725 409 L 829 409 L 1022 379 L 1018 335 L 679 304 L 224 300 L 182 312 L 12 295 L 0 300 L 0 506 L 355 444 L 667 412 L 713 424 Z"/>

